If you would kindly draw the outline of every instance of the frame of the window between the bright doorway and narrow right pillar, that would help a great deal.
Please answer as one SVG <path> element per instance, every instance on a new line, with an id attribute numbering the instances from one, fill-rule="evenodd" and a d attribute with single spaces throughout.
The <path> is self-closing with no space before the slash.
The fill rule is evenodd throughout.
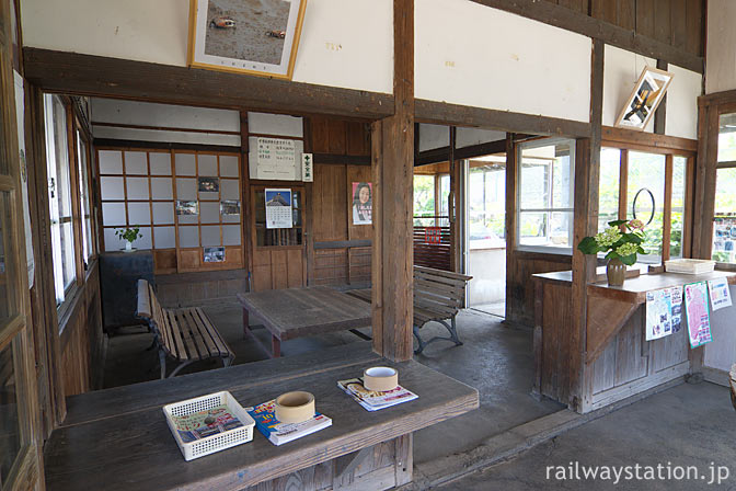
<path id="1" fill-rule="evenodd" d="M 544 207 L 544 208 L 521 208 L 521 187 L 524 181 L 521 179 L 521 169 L 524 168 L 522 161 L 522 151 L 527 149 L 534 149 L 541 147 L 556 146 L 560 144 L 567 144 L 570 146 L 570 173 L 572 184 L 570 186 L 570 207 L 566 208 L 555 208 Z M 573 241 L 575 236 L 574 227 L 574 214 L 575 214 L 575 153 L 577 151 L 577 141 L 574 138 L 536 138 L 528 141 L 521 141 L 515 146 L 514 151 L 516 152 L 516 196 L 515 196 L 515 227 L 514 230 L 514 249 L 521 252 L 539 252 L 545 254 L 560 254 L 560 255 L 572 255 L 573 254 Z M 553 174 L 550 174 L 552 179 L 549 182 L 549 202 L 552 203 L 554 193 L 553 193 Z M 553 213 L 570 213 L 572 214 L 572 219 L 570 221 L 570 230 L 567 231 L 567 240 L 571 243 L 571 247 L 554 247 L 554 246 L 530 246 L 521 244 L 521 214 L 522 213 L 545 213 L 551 215 Z"/>

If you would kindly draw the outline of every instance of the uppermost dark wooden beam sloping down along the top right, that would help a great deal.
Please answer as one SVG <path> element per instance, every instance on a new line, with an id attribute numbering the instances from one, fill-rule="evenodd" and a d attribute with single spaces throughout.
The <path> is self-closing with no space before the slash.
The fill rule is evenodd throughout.
<path id="1" fill-rule="evenodd" d="M 594 39 L 600 39 L 611 46 L 655 59 L 662 59 L 678 67 L 697 71 L 698 73 L 703 73 L 704 71 L 704 60 L 701 56 L 692 55 L 667 43 L 636 34 L 634 31 L 619 27 L 618 25 L 600 21 L 552 2 L 539 0 L 471 1 L 583 34 Z"/>

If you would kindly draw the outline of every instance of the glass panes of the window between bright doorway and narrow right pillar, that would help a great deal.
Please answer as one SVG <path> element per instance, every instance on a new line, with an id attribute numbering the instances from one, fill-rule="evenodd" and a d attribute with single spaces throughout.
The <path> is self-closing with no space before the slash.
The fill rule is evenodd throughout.
<path id="1" fill-rule="evenodd" d="M 572 248 L 574 141 L 522 144 L 519 162 L 518 246 Z"/>

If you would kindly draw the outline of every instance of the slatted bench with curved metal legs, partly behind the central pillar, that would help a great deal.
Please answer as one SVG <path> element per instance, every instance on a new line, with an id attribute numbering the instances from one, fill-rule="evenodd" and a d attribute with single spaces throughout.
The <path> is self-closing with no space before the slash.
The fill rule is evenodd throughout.
<path id="1" fill-rule="evenodd" d="M 419 354 L 429 343 L 446 340 L 461 345 L 455 318 L 465 301 L 465 287 L 472 279 L 460 273 L 435 270 L 434 267 L 414 266 L 414 336 L 419 344 L 414 353 Z M 370 289 L 353 289 L 346 292 L 354 297 L 371 301 Z M 447 323 L 447 321 L 450 323 Z M 439 322 L 450 333 L 449 338 L 436 335 L 424 341 L 419 335 L 428 322 Z"/>

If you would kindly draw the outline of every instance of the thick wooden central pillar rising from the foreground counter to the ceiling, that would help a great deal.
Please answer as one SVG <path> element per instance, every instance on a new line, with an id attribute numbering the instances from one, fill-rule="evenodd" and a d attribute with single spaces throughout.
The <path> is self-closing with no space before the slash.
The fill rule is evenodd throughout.
<path id="1" fill-rule="evenodd" d="M 395 113 L 371 126 L 373 350 L 412 357 L 414 176 L 414 0 L 393 2 Z"/>

